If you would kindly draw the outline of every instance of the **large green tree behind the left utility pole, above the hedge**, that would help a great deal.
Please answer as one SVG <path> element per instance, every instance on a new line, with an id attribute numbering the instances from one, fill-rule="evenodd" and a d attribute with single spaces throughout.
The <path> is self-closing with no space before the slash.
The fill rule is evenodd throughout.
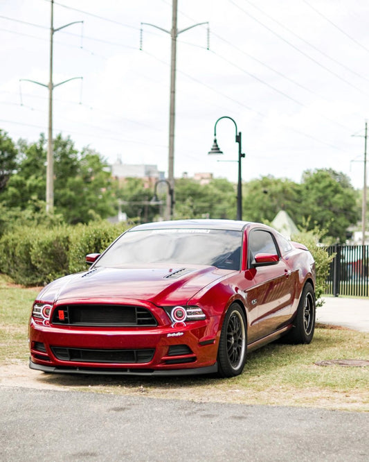
<path id="1" fill-rule="evenodd" d="M 46 139 L 41 135 L 32 144 L 21 139 L 18 146 L 17 171 L 0 191 L 0 201 L 5 207 L 38 212 L 46 196 Z M 100 154 L 90 148 L 78 153 L 69 137 L 57 135 L 54 174 L 55 213 L 67 223 L 88 223 L 114 214 L 111 174 Z"/>

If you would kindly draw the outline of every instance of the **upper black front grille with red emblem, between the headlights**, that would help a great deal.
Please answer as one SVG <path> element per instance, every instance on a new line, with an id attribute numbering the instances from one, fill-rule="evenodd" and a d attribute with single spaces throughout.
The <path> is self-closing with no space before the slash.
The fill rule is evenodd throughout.
<path id="1" fill-rule="evenodd" d="M 51 323 L 100 327 L 157 325 L 148 309 L 127 305 L 60 305 L 53 311 Z"/>

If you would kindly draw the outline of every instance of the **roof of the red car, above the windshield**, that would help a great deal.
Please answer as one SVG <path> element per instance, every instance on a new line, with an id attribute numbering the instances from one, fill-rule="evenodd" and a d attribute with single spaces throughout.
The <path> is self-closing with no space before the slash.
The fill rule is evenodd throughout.
<path id="1" fill-rule="evenodd" d="M 230 230 L 242 231 L 246 225 L 251 224 L 249 221 L 236 220 L 214 220 L 214 219 L 199 219 L 199 220 L 172 220 L 172 221 L 156 221 L 155 223 L 144 223 L 131 228 L 132 231 L 141 230 L 160 230 L 168 228 L 202 228 L 211 230 Z"/>

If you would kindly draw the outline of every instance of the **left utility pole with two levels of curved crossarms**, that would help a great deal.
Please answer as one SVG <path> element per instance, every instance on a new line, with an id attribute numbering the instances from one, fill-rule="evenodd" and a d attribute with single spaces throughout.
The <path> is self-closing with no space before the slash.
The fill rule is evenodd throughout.
<path id="1" fill-rule="evenodd" d="M 54 0 L 51 0 L 51 21 L 50 21 L 50 62 L 49 62 L 49 79 L 48 85 L 44 83 L 36 82 L 35 80 L 29 80 L 28 78 L 21 78 L 21 81 L 36 83 L 42 87 L 48 88 L 48 143 L 47 143 L 47 155 L 46 155 L 46 212 L 53 213 L 54 208 L 54 153 L 53 153 L 53 89 L 62 85 L 63 83 L 70 82 L 77 78 L 82 79 L 83 77 L 73 77 L 63 82 L 53 84 L 53 35 L 55 32 L 64 29 L 65 27 L 71 26 L 72 24 L 83 23 L 83 21 L 75 21 L 66 24 L 65 26 L 54 29 L 53 26 L 53 15 L 54 15 Z"/>

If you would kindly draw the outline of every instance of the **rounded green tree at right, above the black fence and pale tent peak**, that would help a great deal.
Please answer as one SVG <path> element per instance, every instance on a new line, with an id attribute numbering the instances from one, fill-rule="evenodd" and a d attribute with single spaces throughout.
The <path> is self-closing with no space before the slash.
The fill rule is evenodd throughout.
<path id="1" fill-rule="evenodd" d="M 344 242 L 348 227 L 357 223 L 359 209 L 354 188 L 343 173 L 316 169 L 303 174 L 301 210 L 309 229 L 318 225 Z"/>

